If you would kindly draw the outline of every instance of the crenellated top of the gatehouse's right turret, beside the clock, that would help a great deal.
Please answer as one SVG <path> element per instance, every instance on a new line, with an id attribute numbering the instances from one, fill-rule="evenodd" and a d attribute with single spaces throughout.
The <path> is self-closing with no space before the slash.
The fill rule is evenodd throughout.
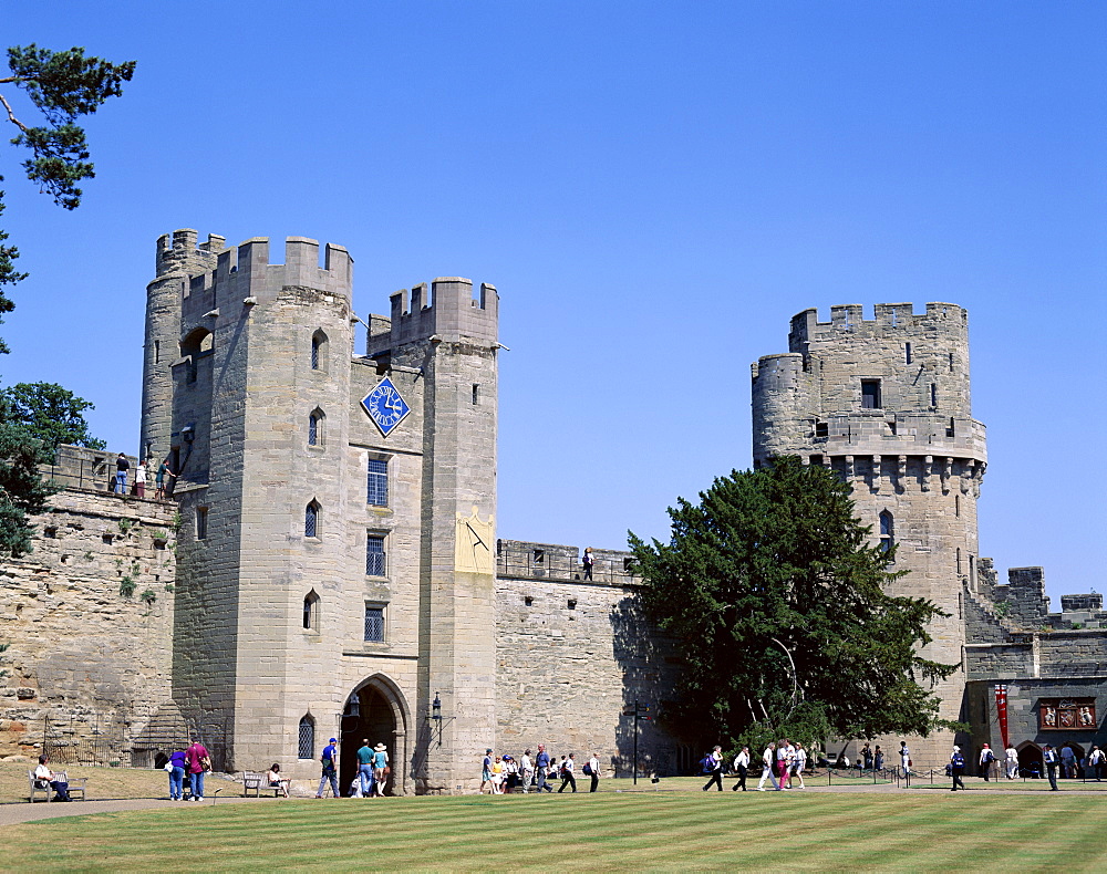
<path id="1" fill-rule="evenodd" d="M 462 277 L 438 277 L 411 290 L 391 295 L 392 314 L 370 316 L 369 354 L 396 348 L 405 343 L 437 339 L 495 345 L 498 336 L 499 293 L 495 285 L 480 284 L 473 296 L 473 281 Z"/>

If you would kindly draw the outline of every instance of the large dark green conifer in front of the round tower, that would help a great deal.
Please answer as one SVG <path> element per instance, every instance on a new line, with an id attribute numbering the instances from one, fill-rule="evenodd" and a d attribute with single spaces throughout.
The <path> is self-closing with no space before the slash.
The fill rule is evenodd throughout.
<path id="1" fill-rule="evenodd" d="M 782 457 L 721 477 L 697 504 L 670 508 L 668 543 L 630 533 L 648 614 L 683 657 L 677 730 L 753 743 L 925 736 L 938 718 L 923 684 L 955 665 L 918 655 L 923 599 L 886 594 L 894 547 L 870 545 L 850 486 L 819 465 Z"/>

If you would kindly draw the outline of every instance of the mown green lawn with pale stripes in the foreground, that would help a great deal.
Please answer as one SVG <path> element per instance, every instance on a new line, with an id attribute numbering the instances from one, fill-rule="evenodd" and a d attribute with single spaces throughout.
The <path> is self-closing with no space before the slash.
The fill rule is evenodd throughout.
<path id="1" fill-rule="evenodd" d="M 18 871 L 1107 868 L 1105 799 L 601 792 L 187 805 L 0 829 Z"/>

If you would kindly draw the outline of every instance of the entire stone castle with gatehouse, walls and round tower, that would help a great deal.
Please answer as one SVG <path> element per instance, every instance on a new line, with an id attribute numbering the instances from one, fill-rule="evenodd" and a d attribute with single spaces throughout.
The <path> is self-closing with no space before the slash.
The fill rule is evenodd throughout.
<path id="1" fill-rule="evenodd" d="M 627 774 L 635 732 L 645 770 L 686 769 L 704 739 L 634 716 L 663 706 L 680 666 L 640 614 L 629 555 L 596 550 L 588 580 L 578 548 L 496 537 L 496 289 L 442 278 L 363 321 L 349 253 L 319 257 L 304 238 L 283 263 L 266 239 L 158 240 L 141 447 L 178 474 L 175 506 L 107 496 L 104 454 L 60 450 L 35 552 L 0 568 L 0 742 L 87 758 L 110 722 L 145 763 L 194 731 L 218 768 L 280 761 L 310 780 L 333 736 L 345 784 L 369 739 L 389 747 L 394 793 L 472 791 L 489 746 L 596 752 Z M 1043 738 L 1089 743 L 1101 602 L 1049 614 L 1039 571 L 1002 586 L 979 556 L 964 310 L 809 310 L 788 347 L 753 368 L 754 464 L 799 455 L 853 486 L 911 572 L 896 585 L 948 614 L 927 653 L 959 665 L 942 716 L 972 724 L 969 747 L 999 742 L 1003 683 L 1027 761 Z M 1092 725 L 1058 725 L 1069 711 Z M 950 742 L 915 745 L 917 763 Z"/>

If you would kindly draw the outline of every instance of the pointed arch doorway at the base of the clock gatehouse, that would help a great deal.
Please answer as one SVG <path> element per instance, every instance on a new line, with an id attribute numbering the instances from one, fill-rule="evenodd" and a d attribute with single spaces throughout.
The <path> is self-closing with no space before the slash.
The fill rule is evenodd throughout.
<path id="1" fill-rule="evenodd" d="M 369 741 L 370 747 L 384 743 L 389 748 L 392 773 L 385 783 L 384 794 L 405 795 L 412 791 L 408 774 L 410 725 L 403 693 L 387 677 L 374 674 L 350 693 L 342 711 L 339 755 L 339 785 L 343 793 L 358 776 L 358 750 L 364 741 Z"/>

